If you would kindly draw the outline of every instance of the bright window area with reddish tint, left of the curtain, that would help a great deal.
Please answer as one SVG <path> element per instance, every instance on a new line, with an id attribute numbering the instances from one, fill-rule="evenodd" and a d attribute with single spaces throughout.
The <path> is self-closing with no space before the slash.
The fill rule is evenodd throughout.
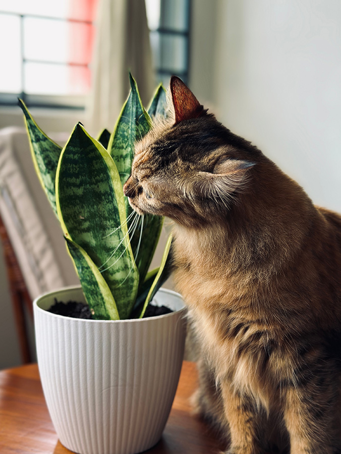
<path id="1" fill-rule="evenodd" d="M 90 88 L 95 3 L 0 2 L 2 104 L 21 96 L 30 105 L 82 106 Z"/>

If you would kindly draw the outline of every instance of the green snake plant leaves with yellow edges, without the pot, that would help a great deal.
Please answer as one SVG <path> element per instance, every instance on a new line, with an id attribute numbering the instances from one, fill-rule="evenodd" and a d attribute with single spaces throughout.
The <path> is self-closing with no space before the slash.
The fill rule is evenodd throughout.
<path id="1" fill-rule="evenodd" d="M 165 115 L 160 85 L 148 111 L 135 80 L 116 126 L 92 138 L 78 123 L 64 148 L 37 126 L 22 100 L 38 178 L 59 218 L 87 303 L 95 319 L 143 317 L 166 277 L 169 237 L 160 267 L 148 271 L 162 228 L 158 216 L 139 216 L 123 194 L 134 144 Z"/>

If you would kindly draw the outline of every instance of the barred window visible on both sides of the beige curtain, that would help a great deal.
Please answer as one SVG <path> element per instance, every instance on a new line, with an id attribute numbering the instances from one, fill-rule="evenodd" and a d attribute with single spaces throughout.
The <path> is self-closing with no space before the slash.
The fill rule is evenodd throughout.
<path id="1" fill-rule="evenodd" d="M 190 0 L 145 0 L 158 80 L 188 81 Z M 82 108 L 97 0 L 0 0 L 0 104 Z M 6 62 L 6 64 L 4 64 Z M 39 75 L 39 77 L 37 77 Z"/>

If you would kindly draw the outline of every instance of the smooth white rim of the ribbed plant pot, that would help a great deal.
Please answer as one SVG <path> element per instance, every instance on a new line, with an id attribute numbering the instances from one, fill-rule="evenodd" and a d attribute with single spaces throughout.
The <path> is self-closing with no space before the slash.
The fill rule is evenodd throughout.
<path id="1" fill-rule="evenodd" d="M 174 310 L 173 312 L 170 312 L 169 314 L 155 315 L 153 317 L 128 318 L 128 319 L 125 319 L 125 320 L 93 320 L 93 319 L 73 318 L 73 317 L 67 317 L 65 315 L 53 314 L 52 312 L 48 312 L 46 309 L 42 309 L 41 307 L 38 306 L 38 302 L 42 298 L 45 298 L 45 297 L 47 297 L 49 295 L 53 295 L 55 293 L 59 293 L 59 294 L 64 293 L 64 292 L 68 293 L 68 292 L 74 291 L 74 290 L 82 291 L 82 286 L 80 286 L 80 285 L 79 286 L 66 286 L 66 287 L 61 287 L 60 289 L 54 289 L 54 290 L 52 290 L 50 292 L 43 293 L 43 294 L 39 295 L 37 298 L 34 299 L 34 301 L 33 301 L 33 309 L 36 310 L 36 311 L 44 313 L 46 316 L 57 317 L 57 318 L 66 319 L 66 320 L 69 320 L 69 321 L 81 322 L 81 323 L 85 323 L 85 322 L 87 322 L 87 323 L 129 323 L 129 322 L 138 323 L 138 322 L 145 322 L 146 323 L 146 322 L 150 322 L 152 320 L 158 320 L 158 319 L 165 318 L 165 317 L 172 317 L 174 315 L 183 315 L 183 316 L 185 316 L 185 313 L 186 313 L 186 306 L 185 306 L 185 303 L 184 303 L 184 307 L 182 307 L 181 309 Z M 156 292 L 156 295 L 160 291 L 162 293 L 167 293 L 169 295 L 177 296 L 183 301 L 183 298 L 180 295 L 180 293 L 177 293 L 174 290 L 164 289 L 163 287 L 161 287 Z"/>

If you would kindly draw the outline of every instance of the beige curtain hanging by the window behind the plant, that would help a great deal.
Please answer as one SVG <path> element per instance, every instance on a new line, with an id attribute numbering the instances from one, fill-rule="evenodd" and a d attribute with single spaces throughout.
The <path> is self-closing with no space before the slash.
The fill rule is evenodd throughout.
<path id="1" fill-rule="evenodd" d="M 130 90 L 129 71 L 143 103 L 155 88 L 144 0 L 98 0 L 88 102 L 89 129 L 112 132 Z"/>

